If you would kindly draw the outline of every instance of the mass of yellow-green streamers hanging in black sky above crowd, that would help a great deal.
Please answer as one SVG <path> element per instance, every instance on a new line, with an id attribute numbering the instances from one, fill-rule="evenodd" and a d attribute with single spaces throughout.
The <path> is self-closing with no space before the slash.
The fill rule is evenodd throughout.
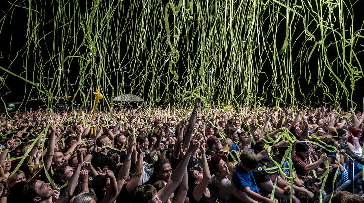
<path id="1" fill-rule="evenodd" d="M 15 0 L 0 9 L 1 99 L 10 75 L 52 108 L 136 94 L 149 107 L 363 101 L 361 0 Z M 15 31 L 15 27 L 17 27 Z M 9 52 L 10 50 L 10 52 Z M 97 54 L 99 54 L 98 57 Z M 45 80 L 44 78 L 48 78 Z M 49 79 L 51 78 L 51 79 Z M 356 99 L 359 97 L 359 100 Z"/>

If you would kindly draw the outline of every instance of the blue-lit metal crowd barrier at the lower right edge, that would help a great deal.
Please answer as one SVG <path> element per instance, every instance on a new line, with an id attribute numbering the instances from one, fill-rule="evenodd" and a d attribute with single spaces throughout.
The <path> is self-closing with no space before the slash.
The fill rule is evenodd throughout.
<path id="1" fill-rule="evenodd" d="M 333 183 L 334 175 L 336 172 L 336 169 L 333 169 L 331 173 L 329 173 L 324 191 L 326 192 L 326 197 L 323 199 L 323 203 L 326 203 L 331 198 L 331 193 L 334 190 L 336 191 L 348 191 L 353 194 L 363 194 L 363 188 L 364 188 L 364 181 L 362 181 L 362 165 L 354 162 L 352 160 L 349 160 L 348 163 L 345 163 L 344 165 L 345 171 L 340 172 L 336 177 L 335 183 Z M 306 186 L 306 189 L 310 190 L 311 180 L 309 178 L 304 179 L 304 185 Z M 308 198 L 306 198 L 307 203 L 311 203 Z M 301 201 L 301 203 L 304 203 L 306 201 Z M 319 201 L 315 201 L 317 203 Z"/>

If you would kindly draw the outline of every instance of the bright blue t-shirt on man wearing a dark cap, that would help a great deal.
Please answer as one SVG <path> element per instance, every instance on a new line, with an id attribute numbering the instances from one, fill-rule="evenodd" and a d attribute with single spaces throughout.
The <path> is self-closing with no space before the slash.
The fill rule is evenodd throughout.
<path id="1" fill-rule="evenodd" d="M 249 187 L 251 191 L 258 193 L 259 188 L 256 185 L 253 174 L 251 172 L 246 172 L 245 170 L 241 169 L 238 166 L 239 163 L 235 165 L 234 172 L 232 175 L 232 182 L 242 192 L 244 192 L 245 187 Z"/>

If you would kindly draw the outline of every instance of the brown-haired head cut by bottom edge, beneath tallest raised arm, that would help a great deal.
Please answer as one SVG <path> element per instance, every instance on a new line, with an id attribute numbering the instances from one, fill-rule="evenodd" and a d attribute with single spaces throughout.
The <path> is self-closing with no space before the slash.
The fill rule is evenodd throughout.
<path id="1" fill-rule="evenodd" d="M 131 199 L 131 203 L 162 203 L 153 185 L 138 186 Z"/>

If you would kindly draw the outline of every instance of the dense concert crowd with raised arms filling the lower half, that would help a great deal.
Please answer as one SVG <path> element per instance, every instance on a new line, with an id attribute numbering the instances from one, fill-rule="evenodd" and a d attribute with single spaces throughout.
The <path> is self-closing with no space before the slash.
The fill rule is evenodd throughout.
<path id="1" fill-rule="evenodd" d="M 209 109 L 198 98 L 193 109 L 94 119 L 91 110 L 10 112 L 0 203 L 313 202 L 322 177 L 349 159 L 364 164 L 363 118 L 333 106 Z"/>

